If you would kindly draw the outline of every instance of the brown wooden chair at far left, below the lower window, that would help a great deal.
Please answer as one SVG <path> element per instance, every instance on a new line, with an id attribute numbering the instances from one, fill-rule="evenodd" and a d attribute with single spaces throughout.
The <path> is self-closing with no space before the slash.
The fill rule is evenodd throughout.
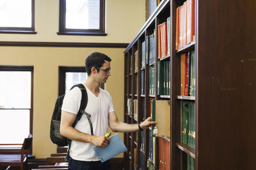
<path id="1" fill-rule="evenodd" d="M 29 134 L 28 138 L 24 139 L 19 154 L 0 154 L 0 166 L 20 167 L 20 170 L 23 170 L 24 166 L 28 164 L 28 149 L 32 144 L 32 139 L 33 136 L 31 134 Z"/>

